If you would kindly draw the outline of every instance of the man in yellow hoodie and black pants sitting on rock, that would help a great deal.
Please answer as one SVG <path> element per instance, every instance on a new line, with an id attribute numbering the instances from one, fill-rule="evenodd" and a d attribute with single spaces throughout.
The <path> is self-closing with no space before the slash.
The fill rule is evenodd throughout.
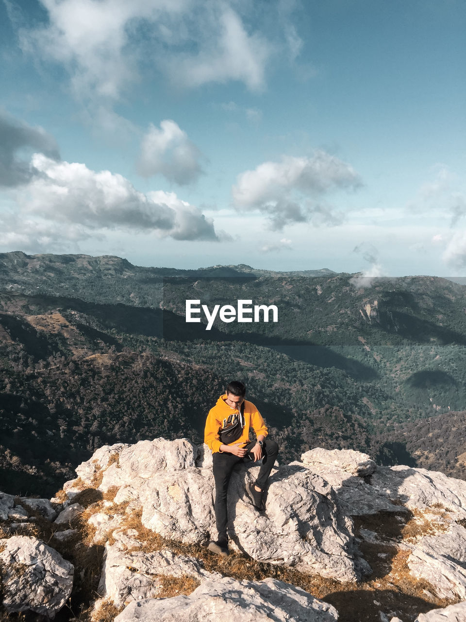
<path id="1" fill-rule="evenodd" d="M 215 519 L 218 540 L 209 544 L 209 550 L 228 555 L 227 537 L 227 489 L 235 464 L 254 464 L 262 458 L 262 465 L 254 484 L 248 486 L 252 502 L 258 510 L 263 509 L 263 491 L 278 453 L 275 441 L 267 439 L 267 426 L 252 402 L 246 401 L 246 388 L 239 381 L 228 384 L 226 394 L 219 397 L 206 420 L 204 442 L 213 454 L 215 480 Z M 257 440 L 250 442 L 249 429 Z"/>

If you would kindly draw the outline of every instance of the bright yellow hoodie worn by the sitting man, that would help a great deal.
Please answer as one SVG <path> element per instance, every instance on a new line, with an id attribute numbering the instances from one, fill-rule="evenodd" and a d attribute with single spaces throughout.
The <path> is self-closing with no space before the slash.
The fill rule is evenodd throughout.
<path id="1" fill-rule="evenodd" d="M 221 442 L 219 437 L 219 429 L 223 426 L 223 420 L 227 419 L 229 415 L 234 415 L 239 412 L 239 409 L 232 408 L 226 404 L 226 394 L 221 395 L 217 399 L 216 405 L 210 409 L 207 415 L 206 428 L 204 429 L 204 443 L 211 448 L 213 453 L 220 451 L 220 446 L 224 443 Z M 256 435 L 263 434 L 267 436 L 267 426 L 265 425 L 262 415 L 257 410 L 252 402 L 244 401 L 244 428 L 242 435 L 234 443 L 229 445 L 245 445 L 250 442 L 249 429 L 252 429 Z"/>

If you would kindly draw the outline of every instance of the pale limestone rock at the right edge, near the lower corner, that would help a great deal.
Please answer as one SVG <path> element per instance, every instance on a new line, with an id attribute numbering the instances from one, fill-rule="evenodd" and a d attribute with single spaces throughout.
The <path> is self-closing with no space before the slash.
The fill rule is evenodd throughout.
<path id="1" fill-rule="evenodd" d="M 424 536 L 408 557 L 409 572 L 424 578 L 439 598 L 466 600 L 466 529 L 452 523 L 449 531 Z"/>

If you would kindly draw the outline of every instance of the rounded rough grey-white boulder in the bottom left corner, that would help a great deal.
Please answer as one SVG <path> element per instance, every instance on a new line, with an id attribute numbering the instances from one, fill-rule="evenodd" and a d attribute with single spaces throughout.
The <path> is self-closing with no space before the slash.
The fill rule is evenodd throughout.
<path id="1" fill-rule="evenodd" d="M 73 565 L 34 537 L 1 539 L 0 547 L 2 603 L 6 610 L 55 617 L 70 596 Z"/>

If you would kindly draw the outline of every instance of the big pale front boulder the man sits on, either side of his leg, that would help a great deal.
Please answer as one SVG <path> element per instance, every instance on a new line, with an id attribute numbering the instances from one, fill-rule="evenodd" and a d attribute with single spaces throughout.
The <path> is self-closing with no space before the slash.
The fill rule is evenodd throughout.
<path id="1" fill-rule="evenodd" d="M 267 509 L 261 514 L 245 492 L 258 470 L 239 465 L 232 473 L 228 492 L 232 547 L 259 561 L 303 572 L 340 581 L 359 578 L 352 521 L 342 513 L 331 486 L 303 466 L 283 466 L 270 478 Z M 168 539 L 203 544 L 217 537 L 213 498 L 210 469 L 162 471 L 140 490 L 142 523 Z"/>

